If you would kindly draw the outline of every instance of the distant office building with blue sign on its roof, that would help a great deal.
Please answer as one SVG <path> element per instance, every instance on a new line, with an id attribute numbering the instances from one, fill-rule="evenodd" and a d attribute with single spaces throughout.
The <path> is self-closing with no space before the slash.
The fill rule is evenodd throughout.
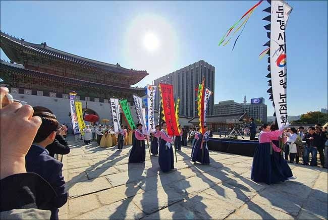
<path id="1" fill-rule="evenodd" d="M 250 118 L 267 122 L 267 105 L 264 104 L 264 98 L 252 98 L 251 103 L 243 103 L 243 112 L 247 113 Z"/>

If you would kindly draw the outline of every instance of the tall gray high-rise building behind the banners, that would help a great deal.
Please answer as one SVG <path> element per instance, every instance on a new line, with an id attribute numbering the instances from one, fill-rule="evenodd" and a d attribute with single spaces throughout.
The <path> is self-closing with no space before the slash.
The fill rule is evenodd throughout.
<path id="1" fill-rule="evenodd" d="M 154 85 L 172 84 L 175 99 L 180 98 L 179 114 L 194 117 L 197 115 L 195 89 L 198 88 L 203 77 L 205 77 L 205 87 L 214 92 L 215 68 L 203 60 L 154 80 Z M 209 99 L 208 115 L 213 115 L 213 107 L 214 93 Z M 159 109 L 159 92 L 155 94 L 155 108 Z"/>

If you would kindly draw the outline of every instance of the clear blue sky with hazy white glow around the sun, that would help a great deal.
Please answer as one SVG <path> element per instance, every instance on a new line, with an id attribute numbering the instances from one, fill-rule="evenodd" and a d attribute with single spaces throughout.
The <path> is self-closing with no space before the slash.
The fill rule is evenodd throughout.
<path id="1" fill-rule="evenodd" d="M 327 105 L 327 1 L 287 1 L 293 11 L 286 30 L 289 115 Z M 258 54 L 268 39 L 263 2 L 249 19 L 233 52 L 218 41 L 257 1 L 1 1 L 1 30 L 107 63 L 147 70 L 138 86 L 205 60 L 215 67 L 215 103 L 264 97 L 266 58 Z M 157 34 L 159 49 L 143 50 L 147 31 Z M 8 60 L 1 51 L 1 58 Z"/>

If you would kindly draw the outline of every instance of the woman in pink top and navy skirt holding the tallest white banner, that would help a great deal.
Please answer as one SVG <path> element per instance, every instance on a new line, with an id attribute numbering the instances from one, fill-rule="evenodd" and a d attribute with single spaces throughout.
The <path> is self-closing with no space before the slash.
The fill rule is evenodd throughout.
<path id="1" fill-rule="evenodd" d="M 264 132 L 256 147 L 251 169 L 251 179 L 257 183 L 278 183 L 293 178 L 287 161 L 281 154 L 279 137 L 287 130 L 270 131 L 270 125 L 263 125 Z"/>

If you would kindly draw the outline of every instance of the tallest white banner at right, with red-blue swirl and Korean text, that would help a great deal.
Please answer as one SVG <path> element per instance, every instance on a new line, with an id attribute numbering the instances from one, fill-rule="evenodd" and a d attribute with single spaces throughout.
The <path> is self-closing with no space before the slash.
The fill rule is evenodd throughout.
<path id="1" fill-rule="evenodd" d="M 279 129 L 288 123 L 285 29 L 292 11 L 284 1 L 271 1 L 270 70 L 272 96 Z"/>

